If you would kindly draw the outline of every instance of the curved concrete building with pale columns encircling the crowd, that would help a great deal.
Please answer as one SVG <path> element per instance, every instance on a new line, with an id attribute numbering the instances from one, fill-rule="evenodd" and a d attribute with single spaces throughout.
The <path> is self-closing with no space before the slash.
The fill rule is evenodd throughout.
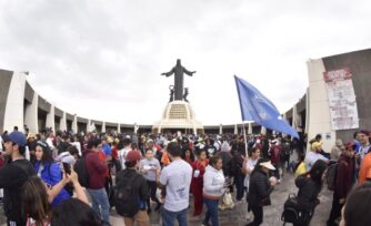
<path id="1" fill-rule="evenodd" d="M 357 130 L 371 129 L 371 49 L 309 60 L 307 66 L 307 92 L 282 114 L 289 124 L 300 134 L 307 133 L 309 138 L 322 134 L 325 151 L 331 150 L 337 138 L 351 141 Z M 189 105 L 183 104 L 183 115 L 178 115 L 174 104 L 168 105 L 161 122 L 139 125 L 139 130 L 150 132 L 153 126 L 161 131 L 173 126 L 180 116 L 189 121 L 184 129 L 201 130 L 202 124 L 194 120 Z M 98 132 L 128 133 L 134 130 L 134 124 L 84 119 L 64 112 L 38 95 L 27 82 L 26 72 L 0 70 L 0 132 L 11 131 L 14 125 L 20 129 L 27 125 L 33 133 L 43 127 L 81 132 L 89 131 L 92 124 Z M 205 125 L 203 130 L 214 134 L 241 133 L 242 125 Z M 245 130 L 254 134 L 264 131 L 257 124 L 245 124 Z"/>

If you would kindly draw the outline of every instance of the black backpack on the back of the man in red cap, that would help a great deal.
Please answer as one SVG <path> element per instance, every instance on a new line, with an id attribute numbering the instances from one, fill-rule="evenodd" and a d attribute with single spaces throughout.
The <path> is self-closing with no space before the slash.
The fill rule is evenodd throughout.
<path id="1" fill-rule="evenodd" d="M 120 171 L 118 174 L 123 174 L 124 171 Z M 118 175 L 119 176 L 119 175 Z M 114 191 L 114 206 L 119 215 L 123 217 L 133 217 L 140 208 L 140 197 L 134 187 L 134 181 L 140 177 L 140 174 L 136 174 L 132 177 L 122 177 L 117 181 Z"/>

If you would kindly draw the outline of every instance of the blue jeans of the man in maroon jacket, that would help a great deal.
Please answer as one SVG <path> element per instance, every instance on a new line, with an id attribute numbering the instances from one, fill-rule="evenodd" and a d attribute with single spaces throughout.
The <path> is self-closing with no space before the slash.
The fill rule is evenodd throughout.
<path id="1" fill-rule="evenodd" d="M 104 220 L 104 224 L 109 225 L 110 203 L 108 202 L 104 187 L 100 189 L 88 189 L 88 192 L 91 197 L 93 210 Z"/>

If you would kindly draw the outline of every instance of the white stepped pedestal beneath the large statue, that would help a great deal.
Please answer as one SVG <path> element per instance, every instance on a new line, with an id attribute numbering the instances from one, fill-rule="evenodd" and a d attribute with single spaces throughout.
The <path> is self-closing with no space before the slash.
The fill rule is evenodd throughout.
<path id="1" fill-rule="evenodd" d="M 186 101 L 172 101 L 166 106 L 162 119 L 153 123 L 152 132 L 181 130 L 186 133 L 203 133 L 203 125 L 194 117 L 191 105 Z"/>

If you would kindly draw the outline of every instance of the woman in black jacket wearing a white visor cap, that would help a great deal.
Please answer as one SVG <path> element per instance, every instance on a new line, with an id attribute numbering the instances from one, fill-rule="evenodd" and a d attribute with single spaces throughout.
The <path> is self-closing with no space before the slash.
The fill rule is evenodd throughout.
<path id="1" fill-rule="evenodd" d="M 263 206 L 270 205 L 270 194 L 272 193 L 277 178 L 269 176 L 269 171 L 274 171 L 274 166 L 267 158 L 260 158 L 250 175 L 249 185 L 249 209 L 252 210 L 253 222 L 249 226 L 258 226 L 263 223 Z"/>

